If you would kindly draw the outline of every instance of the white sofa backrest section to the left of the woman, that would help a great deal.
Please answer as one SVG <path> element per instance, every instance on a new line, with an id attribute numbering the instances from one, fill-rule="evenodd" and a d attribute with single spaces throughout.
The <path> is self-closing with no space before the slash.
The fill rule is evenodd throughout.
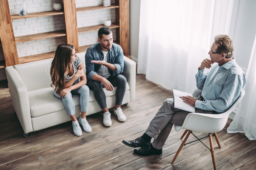
<path id="1" fill-rule="evenodd" d="M 38 60 L 13 66 L 28 91 L 51 87 L 52 59 Z"/>

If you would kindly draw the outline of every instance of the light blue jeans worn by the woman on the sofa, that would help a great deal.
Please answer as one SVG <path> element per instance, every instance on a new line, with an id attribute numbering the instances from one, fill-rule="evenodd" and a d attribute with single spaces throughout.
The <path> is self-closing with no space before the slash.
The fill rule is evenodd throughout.
<path id="1" fill-rule="evenodd" d="M 62 99 L 64 107 L 67 110 L 69 116 L 72 116 L 75 114 L 75 104 L 72 99 L 72 95 L 80 95 L 79 103 L 80 103 L 81 111 L 82 112 L 87 111 L 88 103 L 89 103 L 89 95 L 90 95 L 90 89 L 88 88 L 88 86 L 83 85 L 80 88 L 72 90 L 70 93 L 67 94 L 65 98 L 61 98 L 60 95 L 58 95 L 54 91 L 54 96 Z"/>

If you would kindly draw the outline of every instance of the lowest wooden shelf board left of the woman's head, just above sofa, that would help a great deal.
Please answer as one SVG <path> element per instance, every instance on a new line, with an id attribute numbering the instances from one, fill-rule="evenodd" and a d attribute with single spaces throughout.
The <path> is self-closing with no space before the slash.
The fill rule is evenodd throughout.
<path id="1" fill-rule="evenodd" d="M 21 64 L 21 63 L 27 63 L 31 61 L 44 60 L 44 59 L 53 58 L 54 55 L 55 55 L 55 51 L 49 52 L 49 53 L 30 55 L 26 57 L 19 57 L 19 62 Z"/>

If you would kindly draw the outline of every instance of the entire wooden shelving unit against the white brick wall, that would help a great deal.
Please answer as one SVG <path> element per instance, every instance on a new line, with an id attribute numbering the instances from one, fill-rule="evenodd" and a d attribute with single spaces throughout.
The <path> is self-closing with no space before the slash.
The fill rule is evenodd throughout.
<path id="1" fill-rule="evenodd" d="M 31 55 L 26 57 L 18 58 L 16 43 L 31 41 L 37 39 L 46 39 L 52 37 L 66 36 L 67 43 L 72 44 L 76 48 L 76 52 L 86 51 L 87 46 L 78 46 L 78 33 L 81 32 L 91 32 L 99 30 L 101 25 L 93 25 L 88 27 L 77 28 L 76 23 L 76 12 L 79 11 L 92 11 L 92 10 L 102 10 L 102 9 L 116 9 L 116 23 L 112 23 L 109 28 L 116 28 L 116 41 L 115 43 L 122 46 L 124 50 L 124 55 L 129 55 L 129 0 L 116 0 L 115 4 L 104 7 L 102 5 L 90 6 L 76 8 L 75 0 L 63 0 L 64 10 L 62 11 L 44 11 L 29 13 L 25 16 L 10 15 L 10 9 L 8 0 L 3 0 L 3 5 L 0 7 L 0 13 L 4 14 L 0 16 L 0 37 L 3 45 L 4 51 L 4 61 L 0 61 L 0 68 L 6 66 L 12 66 L 19 63 L 26 63 L 36 60 L 43 60 L 47 58 L 54 57 L 55 52 L 43 53 L 37 55 Z M 52 15 L 62 15 L 65 18 L 65 30 L 45 32 L 33 35 L 14 37 L 12 30 L 12 20 L 22 19 L 22 18 L 33 18 L 33 17 L 43 17 Z M 68 17 L 65 17 L 68 16 Z M 2 17 L 2 18 L 1 18 Z M 8 30 L 8 31 L 6 31 Z M 4 42 L 4 43 L 3 43 Z"/>

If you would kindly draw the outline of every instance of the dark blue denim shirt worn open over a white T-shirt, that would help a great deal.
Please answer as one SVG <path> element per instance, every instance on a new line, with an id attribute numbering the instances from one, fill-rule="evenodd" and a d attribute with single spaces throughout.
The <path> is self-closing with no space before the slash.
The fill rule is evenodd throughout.
<path id="1" fill-rule="evenodd" d="M 94 64 L 92 60 L 103 60 L 103 53 L 101 51 L 100 43 L 90 46 L 85 53 L 85 66 L 87 80 L 91 80 L 92 77 L 97 74 L 100 69 L 100 64 Z M 108 68 L 110 75 L 120 74 L 124 70 L 124 53 L 121 46 L 113 43 L 112 48 L 108 50 L 107 62 L 114 64 L 116 71 L 112 71 Z"/>

